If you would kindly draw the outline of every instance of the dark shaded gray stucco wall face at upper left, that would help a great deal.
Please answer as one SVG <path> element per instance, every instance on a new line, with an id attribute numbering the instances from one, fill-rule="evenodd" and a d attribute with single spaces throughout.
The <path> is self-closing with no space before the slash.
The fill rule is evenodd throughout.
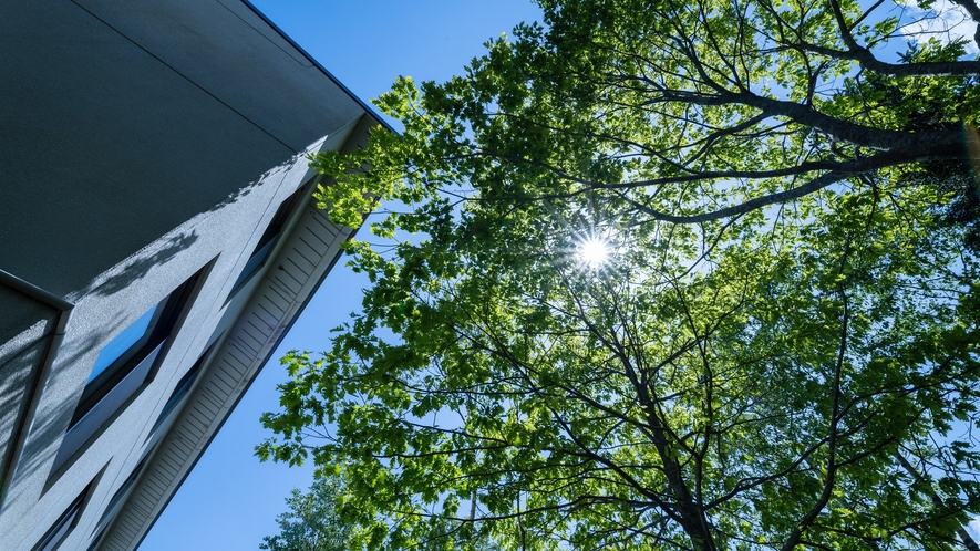
<path id="1" fill-rule="evenodd" d="M 58 295 L 362 113 L 239 1 L 2 2 L 0 51 L 0 268 Z"/>

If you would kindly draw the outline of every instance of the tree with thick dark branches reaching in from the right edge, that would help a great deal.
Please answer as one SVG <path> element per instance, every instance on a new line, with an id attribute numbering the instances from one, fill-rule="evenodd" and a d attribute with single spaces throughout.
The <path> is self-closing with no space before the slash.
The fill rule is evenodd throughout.
<path id="1" fill-rule="evenodd" d="M 976 21 L 971 2 L 959 3 Z M 338 179 L 326 190 L 338 220 L 359 223 L 365 193 L 414 202 L 478 181 L 502 208 L 598 193 L 619 199 L 619 216 L 698 223 L 962 162 L 964 129 L 976 144 L 980 61 L 964 59 L 967 39 L 921 31 L 928 40 L 906 46 L 936 15 L 910 21 L 904 4 L 540 4 L 547 30 L 519 25 L 465 76 L 421 94 L 402 79 L 382 96 L 402 135 L 379 131 L 358 155 L 318 157 Z"/>

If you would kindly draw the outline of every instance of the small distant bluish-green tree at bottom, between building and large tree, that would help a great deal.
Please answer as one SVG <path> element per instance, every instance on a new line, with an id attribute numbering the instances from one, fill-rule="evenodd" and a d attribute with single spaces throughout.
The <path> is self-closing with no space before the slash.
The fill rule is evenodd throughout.
<path id="1" fill-rule="evenodd" d="M 259 549 L 269 551 L 345 551 L 350 528 L 338 517 L 339 484 L 313 481 L 308 493 L 293 488 L 286 498 L 289 511 L 276 518 L 277 536 L 266 536 Z"/>

